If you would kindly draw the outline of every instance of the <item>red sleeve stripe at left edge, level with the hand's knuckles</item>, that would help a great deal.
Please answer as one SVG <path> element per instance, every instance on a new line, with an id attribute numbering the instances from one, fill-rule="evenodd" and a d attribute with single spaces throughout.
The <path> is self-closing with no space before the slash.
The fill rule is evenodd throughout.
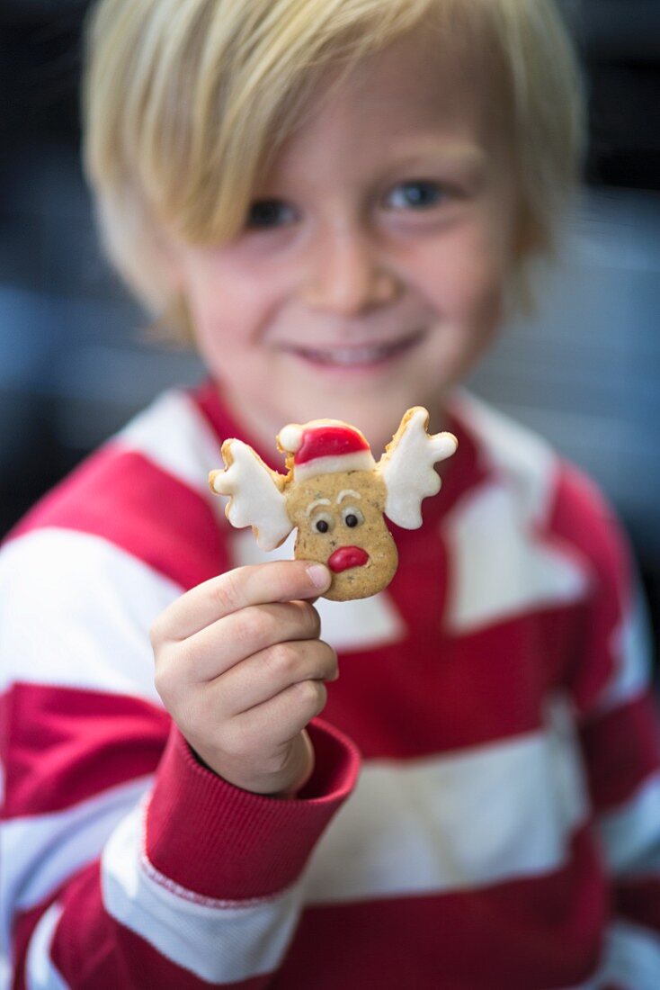
<path id="1" fill-rule="evenodd" d="M 152 773 L 166 712 L 140 698 L 15 684 L 4 699 L 5 818 L 56 812 Z"/>

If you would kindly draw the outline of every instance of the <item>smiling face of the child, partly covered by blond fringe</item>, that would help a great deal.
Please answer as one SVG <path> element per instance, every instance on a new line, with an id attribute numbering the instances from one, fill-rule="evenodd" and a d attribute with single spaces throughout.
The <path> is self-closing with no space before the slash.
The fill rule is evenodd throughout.
<path id="1" fill-rule="evenodd" d="M 437 428 L 498 326 L 518 226 L 507 123 L 486 70 L 433 47 L 398 42 L 313 103 L 233 243 L 177 248 L 202 356 L 269 444 L 321 417 L 381 444 L 414 405 Z"/>

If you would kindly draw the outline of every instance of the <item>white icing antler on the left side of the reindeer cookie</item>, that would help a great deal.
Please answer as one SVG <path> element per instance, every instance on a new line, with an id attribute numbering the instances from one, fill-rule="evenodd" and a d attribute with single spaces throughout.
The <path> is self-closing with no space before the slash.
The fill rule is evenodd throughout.
<path id="1" fill-rule="evenodd" d="M 211 488 L 229 495 L 225 514 L 232 526 L 251 526 L 262 550 L 274 550 L 293 529 L 282 494 L 285 477 L 271 471 L 250 446 L 239 440 L 223 444 L 224 471 L 212 471 Z"/>

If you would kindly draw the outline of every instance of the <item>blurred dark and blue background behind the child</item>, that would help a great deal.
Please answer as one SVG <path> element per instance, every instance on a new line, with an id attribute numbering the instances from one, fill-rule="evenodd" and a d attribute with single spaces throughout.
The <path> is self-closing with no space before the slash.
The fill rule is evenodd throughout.
<path id="1" fill-rule="evenodd" d="M 0 535 L 162 388 L 79 164 L 83 0 L 0 0 Z M 565 0 L 590 87 L 587 192 L 543 304 L 474 376 L 610 496 L 660 627 L 660 0 Z M 657 643 L 657 639 L 656 639 Z"/>

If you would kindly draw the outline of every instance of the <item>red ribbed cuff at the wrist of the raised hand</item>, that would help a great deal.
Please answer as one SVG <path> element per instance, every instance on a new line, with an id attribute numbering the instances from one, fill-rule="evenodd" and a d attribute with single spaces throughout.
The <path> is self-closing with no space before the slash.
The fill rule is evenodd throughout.
<path id="1" fill-rule="evenodd" d="M 355 785 L 359 754 L 327 723 L 308 727 L 316 765 L 282 801 L 240 790 L 202 766 L 172 725 L 146 815 L 149 862 L 207 897 L 244 900 L 290 886 Z"/>

